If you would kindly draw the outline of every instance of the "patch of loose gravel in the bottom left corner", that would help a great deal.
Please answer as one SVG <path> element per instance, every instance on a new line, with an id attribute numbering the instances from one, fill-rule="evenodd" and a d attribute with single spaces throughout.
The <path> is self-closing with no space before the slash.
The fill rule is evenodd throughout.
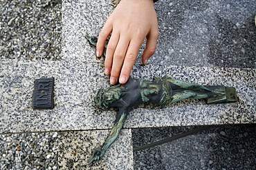
<path id="1" fill-rule="evenodd" d="M 0 169 L 57 169 L 57 132 L 2 134 Z"/>

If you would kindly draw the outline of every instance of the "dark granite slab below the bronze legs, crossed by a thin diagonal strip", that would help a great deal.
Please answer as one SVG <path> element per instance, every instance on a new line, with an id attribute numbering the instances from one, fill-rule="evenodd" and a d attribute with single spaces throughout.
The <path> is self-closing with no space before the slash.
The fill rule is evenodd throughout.
<path id="1" fill-rule="evenodd" d="M 194 127 L 132 129 L 138 147 Z M 256 124 L 217 125 L 134 153 L 134 169 L 255 169 Z"/>

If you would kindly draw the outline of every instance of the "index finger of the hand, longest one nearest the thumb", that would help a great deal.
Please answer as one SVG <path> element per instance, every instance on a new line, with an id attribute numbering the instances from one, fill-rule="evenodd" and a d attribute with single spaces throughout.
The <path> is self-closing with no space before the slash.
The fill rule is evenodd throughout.
<path id="1" fill-rule="evenodd" d="M 130 42 L 119 78 L 119 82 L 121 84 L 124 84 L 128 81 L 131 70 L 134 67 L 134 63 L 138 56 L 138 50 L 140 50 L 140 46 L 142 43 L 143 41 L 138 41 L 138 39 Z"/>

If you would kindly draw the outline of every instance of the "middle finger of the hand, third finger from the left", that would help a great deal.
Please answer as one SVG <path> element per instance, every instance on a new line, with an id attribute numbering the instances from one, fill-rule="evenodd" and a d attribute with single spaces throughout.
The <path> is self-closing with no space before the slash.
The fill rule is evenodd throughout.
<path id="1" fill-rule="evenodd" d="M 110 77 L 110 83 L 112 85 L 116 84 L 118 81 L 118 77 L 120 75 L 122 63 L 125 59 L 125 54 L 127 52 L 128 45 L 129 45 L 129 39 L 120 37 L 115 53 L 113 54 L 113 64 L 111 68 L 111 77 Z"/>

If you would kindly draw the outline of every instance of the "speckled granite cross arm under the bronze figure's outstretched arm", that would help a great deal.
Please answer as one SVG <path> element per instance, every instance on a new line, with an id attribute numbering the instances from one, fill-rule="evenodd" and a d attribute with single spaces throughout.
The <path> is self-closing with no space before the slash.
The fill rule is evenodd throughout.
<path id="1" fill-rule="evenodd" d="M 95 164 L 88 164 L 94 149 L 107 138 L 109 130 L 63 131 L 58 134 L 59 169 L 134 169 L 131 129 L 123 129 L 119 138 Z"/>

